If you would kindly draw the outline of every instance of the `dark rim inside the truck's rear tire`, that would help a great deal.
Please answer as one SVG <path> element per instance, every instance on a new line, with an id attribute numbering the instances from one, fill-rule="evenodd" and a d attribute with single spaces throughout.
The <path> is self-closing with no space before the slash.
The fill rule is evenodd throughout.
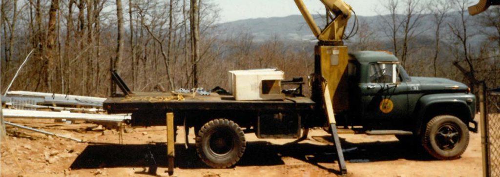
<path id="1" fill-rule="evenodd" d="M 231 151 L 234 146 L 232 133 L 227 129 L 215 131 L 210 135 L 208 146 L 210 152 L 215 155 L 224 155 Z"/>

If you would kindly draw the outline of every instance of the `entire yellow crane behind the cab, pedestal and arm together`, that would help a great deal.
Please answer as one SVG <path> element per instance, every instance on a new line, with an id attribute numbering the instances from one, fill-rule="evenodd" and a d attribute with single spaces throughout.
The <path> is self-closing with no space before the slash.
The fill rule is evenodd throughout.
<path id="1" fill-rule="evenodd" d="M 349 56 L 347 46 L 343 45 L 347 21 L 351 17 L 352 8 L 343 0 L 320 0 L 328 13 L 334 15 L 326 27 L 319 29 L 312 15 L 302 0 L 294 0 L 312 33 L 318 39 L 314 46 L 314 75 L 319 75 L 328 83 L 330 100 L 335 112 L 348 109 L 346 68 Z M 325 88 L 326 89 L 326 88 Z M 323 90 L 312 90 L 312 96 L 322 95 Z"/>

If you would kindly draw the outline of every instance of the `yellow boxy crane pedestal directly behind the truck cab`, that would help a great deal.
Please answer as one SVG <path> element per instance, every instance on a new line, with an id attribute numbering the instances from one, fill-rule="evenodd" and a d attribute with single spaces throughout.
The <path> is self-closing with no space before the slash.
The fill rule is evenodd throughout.
<path id="1" fill-rule="evenodd" d="M 316 45 L 314 52 L 316 58 L 319 58 L 321 75 L 328 83 L 327 88 L 333 110 L 346 110 L 348 108 L 347 64 L 349 58 L 347 46 Z"/>

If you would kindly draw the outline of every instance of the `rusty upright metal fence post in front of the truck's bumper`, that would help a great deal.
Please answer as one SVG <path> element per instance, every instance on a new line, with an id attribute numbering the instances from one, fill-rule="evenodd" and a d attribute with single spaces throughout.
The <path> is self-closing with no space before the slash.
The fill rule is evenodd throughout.
<path id="1" fill-rule="evenodd" d="M 482 176 L 489 176 L 488 113 L 486 112 L 486 83 L 479 84 L 479 112 L 481 126 Z"/>

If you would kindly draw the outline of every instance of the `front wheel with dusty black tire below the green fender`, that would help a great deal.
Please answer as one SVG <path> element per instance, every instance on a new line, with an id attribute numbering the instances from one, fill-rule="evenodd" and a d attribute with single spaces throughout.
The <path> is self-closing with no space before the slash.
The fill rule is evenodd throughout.
<path id="1" fill-rule="evenodd" d="M 422 145 L 437 159 L 456 159 L 469 142 L 467 126 L 453 115 L 438 115 L 427 122 Z"/>

